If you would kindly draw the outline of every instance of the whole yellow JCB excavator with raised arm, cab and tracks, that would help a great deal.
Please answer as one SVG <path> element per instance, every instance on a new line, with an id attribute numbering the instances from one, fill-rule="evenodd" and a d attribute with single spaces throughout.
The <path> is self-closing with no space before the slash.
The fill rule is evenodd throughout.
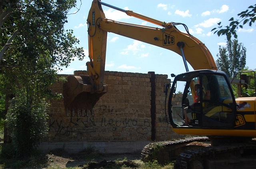
<path id="1" fill-rule="evenodd" d="M 107 19 L 102 5 L 161 28 Z M 166 48 L 182 56 L 186 73 L 173 76 L 175 78 L 171 82 L 172 85 L 164 86 L 168 96 L 166 117 L 176 133 L 207 136 L 163 143 L 166 150 L 161 151 L 162 159 L 175 159 L 174 168 L 177 169 L 256 166 L 256 143 L 252 139 L 256 137 L 256 97 L 234 97 L 228 76 L 217 70 L 208 48 L 189 34 L 186 25 L 161 22 L 100 0 L 93 0 L 87 22 L 90 62 L 87 62 L 86 66 L 89 75 L 68 76 L 68 82 L 64 84 L 63 89 L 66 109 L 91 110 L 100 96 L 107 92 L 107 85 L 103 84 L 107 32 L 126 36 Z M 187 33 L 179 31 L 176 25 L 183 25 Z M 187 62 L 194 71 L 188 70 Z M 184 86 L 184 90 L 182 101 L 177 106 L 173 105 L 173 98 L 179 84 Z M 196 101 L 191 99 L 192 97 L 196 98 Z M 184 144 L 208 139 L 211 141 L 210 146 L 180 151 L 185 149 Z M 178 155 L 174 155 L 172 147 L 181 147 Z M 148 151 L 144 151 L 144 155 L 150 155 L 151 148 L 146 149 Z"/>

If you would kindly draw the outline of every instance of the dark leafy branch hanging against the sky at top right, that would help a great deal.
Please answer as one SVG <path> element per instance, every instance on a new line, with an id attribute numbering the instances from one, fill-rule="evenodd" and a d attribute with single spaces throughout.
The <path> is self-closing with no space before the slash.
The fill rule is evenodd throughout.
<path id="1" fill-rule="evenodd" d="M 218 28 L 213 28 L 214 34 L 217 33 L 218 36 L 226 35 L 227 40 L 230 40 L 232 36 L 237 38 L 236 30 L 238 28 L 243 28 L 244 25 L 248 24 L 252 26 L 256 20 L 256 4 L 253 6 L 249 6 L 247 10 L 240 12 L 237 16 L 239 19 L 234 20 L 234 18 L 230 18 L 229 26 L 225 26 L 224 28 L 221 26 L 221 22 L 218 23 Z"/>

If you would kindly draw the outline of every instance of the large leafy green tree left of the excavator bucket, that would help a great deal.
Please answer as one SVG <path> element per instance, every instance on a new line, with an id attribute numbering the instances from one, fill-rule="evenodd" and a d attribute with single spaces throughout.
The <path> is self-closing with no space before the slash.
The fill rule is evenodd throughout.
<path id="1" fill-rule="evenodd" d="M 0 0 L 0 87 L 6 98 L 12 141 L 22 152 L 26 145 L 35 147 L 47 130 L 44 121 L 48 100 L 54 96 L 49 86 L 57 80 L 60 66 L 68 66 L 73 57 L 83 60 L 83 48 L 72 30 L 64 30 L 67 16 L 76 0 Z M 4 17 L 3 17 L 4 16 Z M 2 59 L 1 59 L 2 58 Z M 5 114 L 7 109 L 5 110 Z M 12 118 L 16 117 L 16 118 Z M 26 118 L 32 120 L 26 123 Z M 13 121 L 16 120 L 16 121 Z M 41 120 L 41 122 L 40 122 Z M 22 138 L 17 130 L 24 124 L 30 133 Z M 19 123 L 20 122 L 20 123 Z M 12 125 L 12 123 L 16 125 Z M 42 129 L 36 124 L 41 124 Z M 23 131 L 28 126 L 23 127 Z M 26 132 L 26 131 L 24 131 Z M 42 132 L 42 135 L 40 134 Z M 37 134 L 38 137 L 32 137 Z M 24 134 L 25 135 L 25 134 Z M 7 142 L 7 134 L 4 135 Z M 39 138 L 39 139 L 38 139 Z M 18 141 L 18 142 L 17 142 Z"/>

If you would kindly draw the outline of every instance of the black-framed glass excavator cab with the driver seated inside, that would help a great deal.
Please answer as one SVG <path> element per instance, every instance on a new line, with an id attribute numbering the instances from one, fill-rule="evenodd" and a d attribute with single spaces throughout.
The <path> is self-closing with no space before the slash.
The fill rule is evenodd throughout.
<path id="1" fill-rule="evenodd" d="M 198 71 L 177 77 L 183 83 L 182 111 L 172 107 L 172 119 L 181 127 L 233 126 L 229 116 L 234 115 L 232 94 L 224 76 Z M 185 83 L 185 84 L 184 84 Z M 176 112 L 178 113 L 177 117 Z M 182 119 L 181 119 L 182 117 Z M 175 119 L 176 118 L 176 119 Z M 180 120 L 181 119 L 181 120 Z"/>

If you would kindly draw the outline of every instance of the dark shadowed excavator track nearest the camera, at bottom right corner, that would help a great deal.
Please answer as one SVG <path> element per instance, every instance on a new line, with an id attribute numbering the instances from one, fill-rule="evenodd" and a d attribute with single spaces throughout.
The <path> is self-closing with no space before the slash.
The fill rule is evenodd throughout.
<path id="1" fill-rule="evenodd" d="M 256 144 L 209 146 L 180 154 L 174 169 L 252 169 L 256 166 Z"/>

